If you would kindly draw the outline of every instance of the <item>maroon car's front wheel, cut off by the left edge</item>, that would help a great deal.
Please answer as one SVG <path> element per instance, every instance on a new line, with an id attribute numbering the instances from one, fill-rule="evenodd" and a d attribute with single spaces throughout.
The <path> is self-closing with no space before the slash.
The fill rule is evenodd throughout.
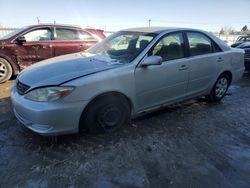
<path id="1" fill-rule="evenodd" d="M 13 70 L 8 61 L 0 58 L 0 83 L 6 82 L 12 76 Z"/>

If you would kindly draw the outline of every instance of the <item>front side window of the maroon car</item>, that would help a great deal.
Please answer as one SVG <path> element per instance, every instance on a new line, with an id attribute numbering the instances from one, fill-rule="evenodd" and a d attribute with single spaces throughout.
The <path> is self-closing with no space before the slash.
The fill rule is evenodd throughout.
<path id="1" fill-rule="evenodd" d="M 50 29 L 37 29 L 24 35 L 27 42 L 51 40 L 51 36 Z"/>

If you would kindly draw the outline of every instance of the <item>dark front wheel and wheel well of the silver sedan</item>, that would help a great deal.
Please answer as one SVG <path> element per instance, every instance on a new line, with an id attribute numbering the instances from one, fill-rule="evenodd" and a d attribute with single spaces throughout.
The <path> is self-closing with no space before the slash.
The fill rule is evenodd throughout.
<path id="1" fill-rule="evenodd" d="M 90 133 L 113 132 L 130 120 L 130 105 L 126 98 L 108 95 L 91 102 L 83 112 L 80 130 Z"/>

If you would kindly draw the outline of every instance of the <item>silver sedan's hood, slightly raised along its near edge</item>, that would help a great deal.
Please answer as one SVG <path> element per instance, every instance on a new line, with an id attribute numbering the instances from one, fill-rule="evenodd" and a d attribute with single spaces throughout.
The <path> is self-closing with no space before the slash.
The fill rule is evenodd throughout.
<path id="1" fill-rule="evenodd" d="M 31 88 L 60 85 L 79 77 L 123 65 L 103 56 L 75 53 L 36 63 L 24 69 L 17 79 Z"/>

